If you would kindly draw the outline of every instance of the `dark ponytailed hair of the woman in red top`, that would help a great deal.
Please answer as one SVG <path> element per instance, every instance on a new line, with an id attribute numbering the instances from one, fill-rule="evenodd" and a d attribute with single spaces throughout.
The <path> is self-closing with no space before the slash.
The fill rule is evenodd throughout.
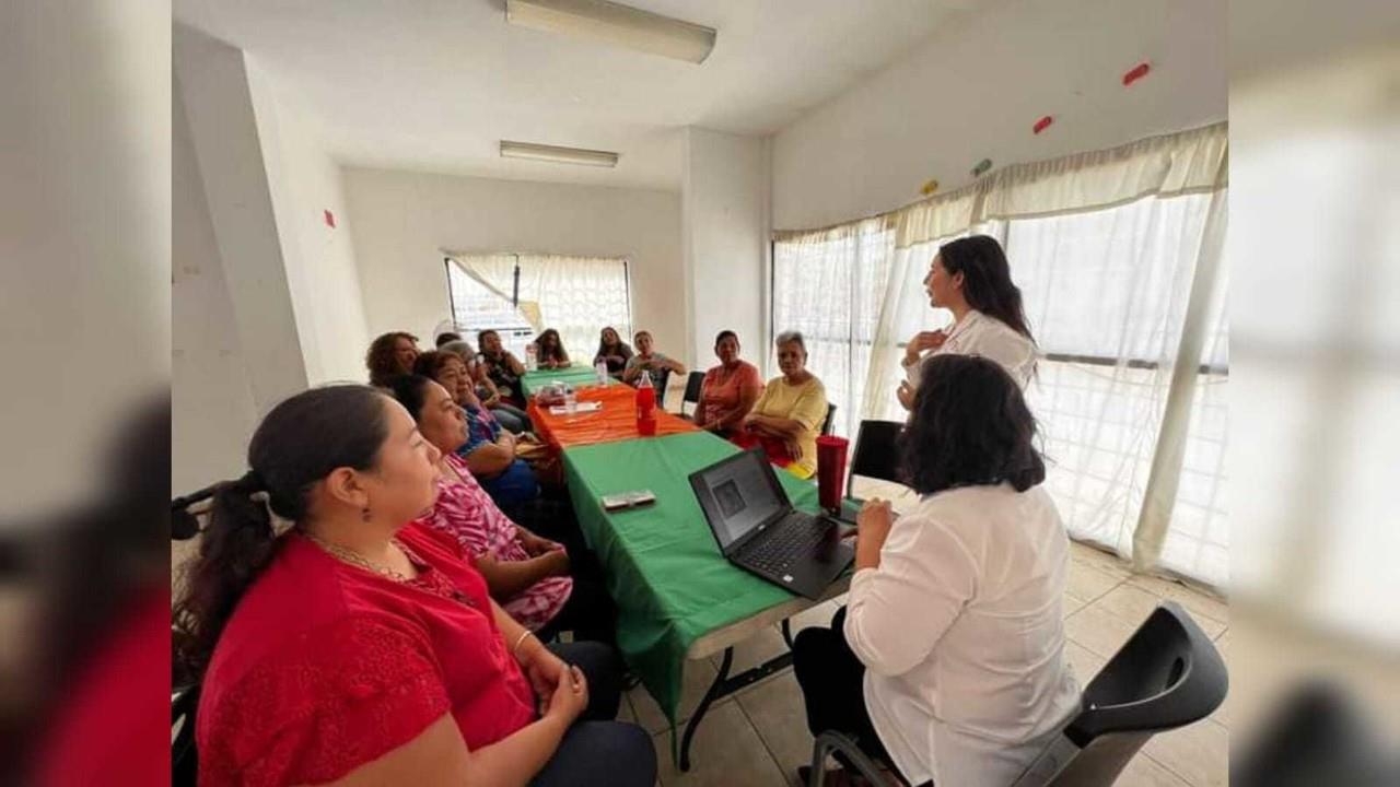
<path id="1" fill-rule="evenodd" d="M 203 675 L 238 602 L 277 556 L 273 514 L 301 521 L 316 482 L 336 468 L 375 466 L 388 402 L 367 385 L 329 385 L 281 402 L 259 424 L 248 445 L 252 469 L 214 489 L 199 556 L 174 608 L 178 658 L 189 675 Z"/>

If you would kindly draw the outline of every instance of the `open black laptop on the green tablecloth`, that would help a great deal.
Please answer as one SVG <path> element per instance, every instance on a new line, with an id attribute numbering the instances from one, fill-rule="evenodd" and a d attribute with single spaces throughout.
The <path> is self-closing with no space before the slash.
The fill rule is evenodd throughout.
<path id="1" fill-rule="evenodd" d="M 743 451 L 690 473 L 690 487 L 735 566 L 806 598 L 820 598 L 855 550 L 836 520 L 792 508 L 763 451 Z"/>

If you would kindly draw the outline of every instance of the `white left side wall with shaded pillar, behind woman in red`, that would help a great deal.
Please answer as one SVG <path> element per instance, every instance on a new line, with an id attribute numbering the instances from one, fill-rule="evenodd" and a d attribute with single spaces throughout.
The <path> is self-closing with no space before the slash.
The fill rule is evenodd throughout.
<path id="1" fill-rule="evenodd" d="M 183 25 L 174 70 L 172 483 L 189 492 L 242 473 L 277 402 L 363 379 L 368 337 L 316 130 L 244 52 Z"/>

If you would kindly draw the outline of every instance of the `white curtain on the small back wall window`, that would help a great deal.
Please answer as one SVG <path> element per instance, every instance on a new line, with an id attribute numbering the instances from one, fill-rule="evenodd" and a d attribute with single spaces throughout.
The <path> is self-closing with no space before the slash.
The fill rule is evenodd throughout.
<path id="1" fill-rule="evenodd" d="M 519 266 L 519 311 L 536 333 L 559 330 L 575 363 L 588 364 L 603 326 L 631 336 L 627 262 L 538 253 L 449 253 L 462 269 L 507 301 Z"/>

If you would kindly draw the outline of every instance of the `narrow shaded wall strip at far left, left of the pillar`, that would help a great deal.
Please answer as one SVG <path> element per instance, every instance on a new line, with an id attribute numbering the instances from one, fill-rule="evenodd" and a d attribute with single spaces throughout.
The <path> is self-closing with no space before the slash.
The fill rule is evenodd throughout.
<path id="1" fill-rule="evenodd" d="M 181 91 L 171 111 L 171 492 L 245 469 L 258 423 Z"/>

